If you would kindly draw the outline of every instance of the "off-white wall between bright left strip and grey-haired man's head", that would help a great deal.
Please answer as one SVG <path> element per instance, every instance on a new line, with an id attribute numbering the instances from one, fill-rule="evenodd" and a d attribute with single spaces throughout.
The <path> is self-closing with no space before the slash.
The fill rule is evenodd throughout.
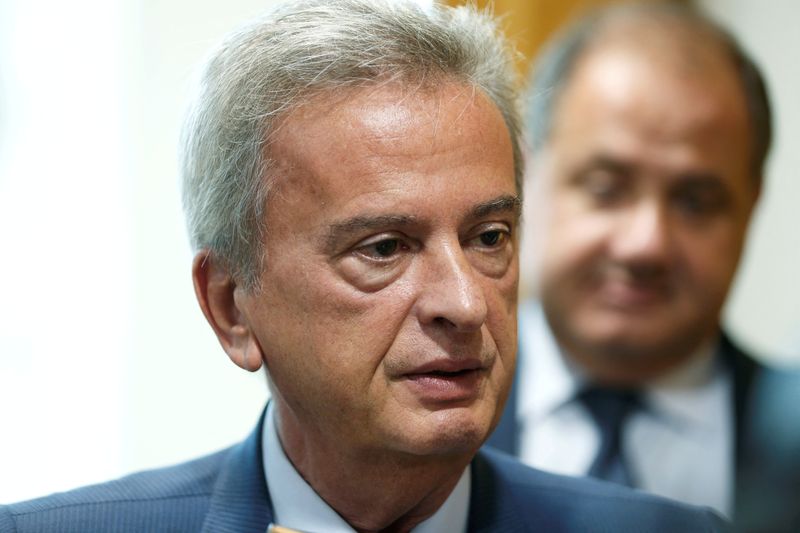
<path id="1" fill-rule="evenodd" d="M 197 66 L 222 35 L 275 3 L 126 0 L 136 6 L 128 72 L 135 150 L 131 200 L 132 354 L 122 406 L 123 469 L 197 456 L 243 438 L 266 398 L 263 375 L 233 365 L 192 290 L 177 141 Z"/>

